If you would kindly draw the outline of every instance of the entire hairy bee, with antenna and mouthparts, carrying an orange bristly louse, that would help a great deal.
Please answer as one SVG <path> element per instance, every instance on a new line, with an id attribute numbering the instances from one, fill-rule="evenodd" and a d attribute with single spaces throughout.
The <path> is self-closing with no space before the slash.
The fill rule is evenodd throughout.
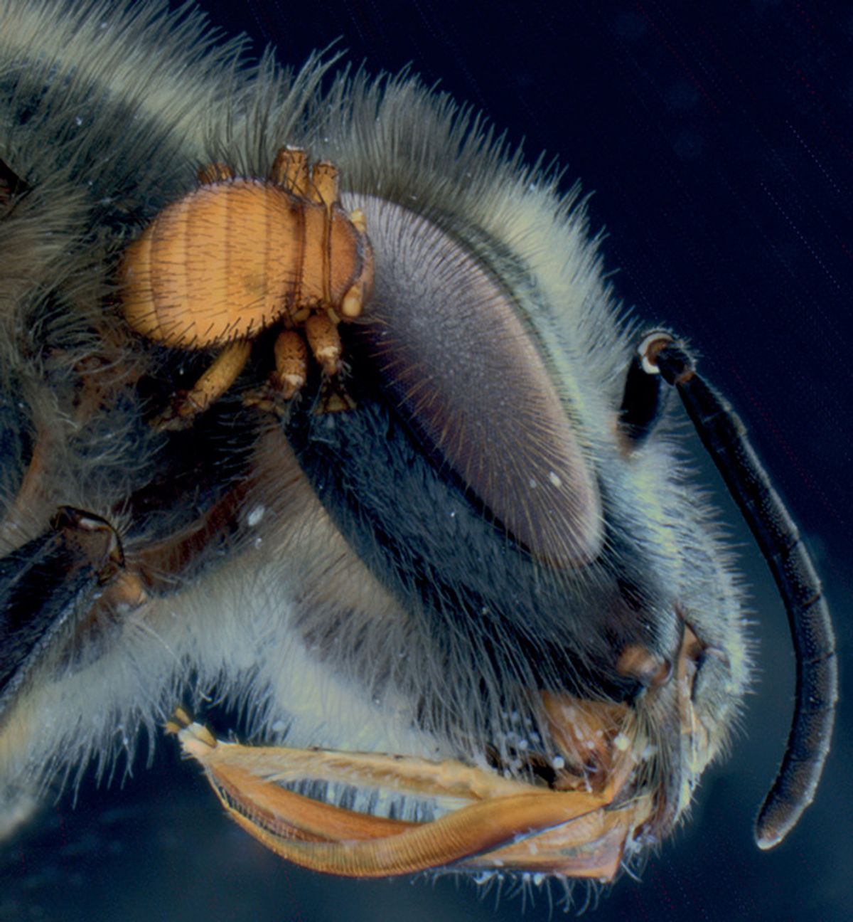
<path id="1" fill-rule="evenodd" d="M 150 11 L 106 28 L 48 4 L 46 31 L 11 6 L 6 827 L 168 726 L 234 819 L 307 867 L 612 880 L 684 815 L 750 678 L 742 590 L 659 425 L 662 379 L 791 617 L 799 709 L 758 830 L 776 844 L 832 727 L 820 585 L 725 401 L 671 334 L 626 332 L 556 178 L 410 79 L 323 96 L 316 62 L 286 79 L 195 60 L 192 17 L 173 47 Z M 340 166 L 340 208 L 316 169 L 311 197 L 301 155 L 266 162 L 286 145 Z M 239 169 L 205 166 L 222 148 Z M 345 349 L 352 412 L 312 412 L 323 382 L 301 359 L 278 362 L 304 397 L 280 419 L 228 393 L 244 367 L 267 377 L 249 337 L 281 322 L 311 340 L 315 318 L 325 372 Z M 149 426 L 199 346 L 226 358 L 182 427 Z M 193 722 L 214 696 L 245 705 L 254 745 Z"/>

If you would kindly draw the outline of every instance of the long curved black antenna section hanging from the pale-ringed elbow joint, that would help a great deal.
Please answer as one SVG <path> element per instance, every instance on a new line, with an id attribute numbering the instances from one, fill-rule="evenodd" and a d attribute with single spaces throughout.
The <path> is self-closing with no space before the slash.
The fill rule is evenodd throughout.
<path id="1" fill-rule="evenodd" d="M 660 373 L 681 396 L 770 567 L 788 613 L 797 656 L 794 715 L 785 756 L 755 822 L 759 848 L 778 845 L 809 806 L 829 752 L 838 698 L 835 634 L 812 558 L 724 397 L 696 372 L 684 346 L 667 333 L 645 337 L 643 369 Z"/>

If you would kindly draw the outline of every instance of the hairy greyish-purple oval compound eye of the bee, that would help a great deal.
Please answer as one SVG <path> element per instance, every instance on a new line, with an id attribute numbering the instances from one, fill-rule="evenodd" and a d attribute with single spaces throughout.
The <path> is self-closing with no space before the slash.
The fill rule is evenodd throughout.
<path id="1" fill-rule="evenodd" d="M 352 199 L 375 257 L 359 325 L 391 401 L 438 464 L 534 557 L 557 567 L 593 560 L 602 543 L 596 481 L 509 291 L 431 221 L 371 196 Z"/>

